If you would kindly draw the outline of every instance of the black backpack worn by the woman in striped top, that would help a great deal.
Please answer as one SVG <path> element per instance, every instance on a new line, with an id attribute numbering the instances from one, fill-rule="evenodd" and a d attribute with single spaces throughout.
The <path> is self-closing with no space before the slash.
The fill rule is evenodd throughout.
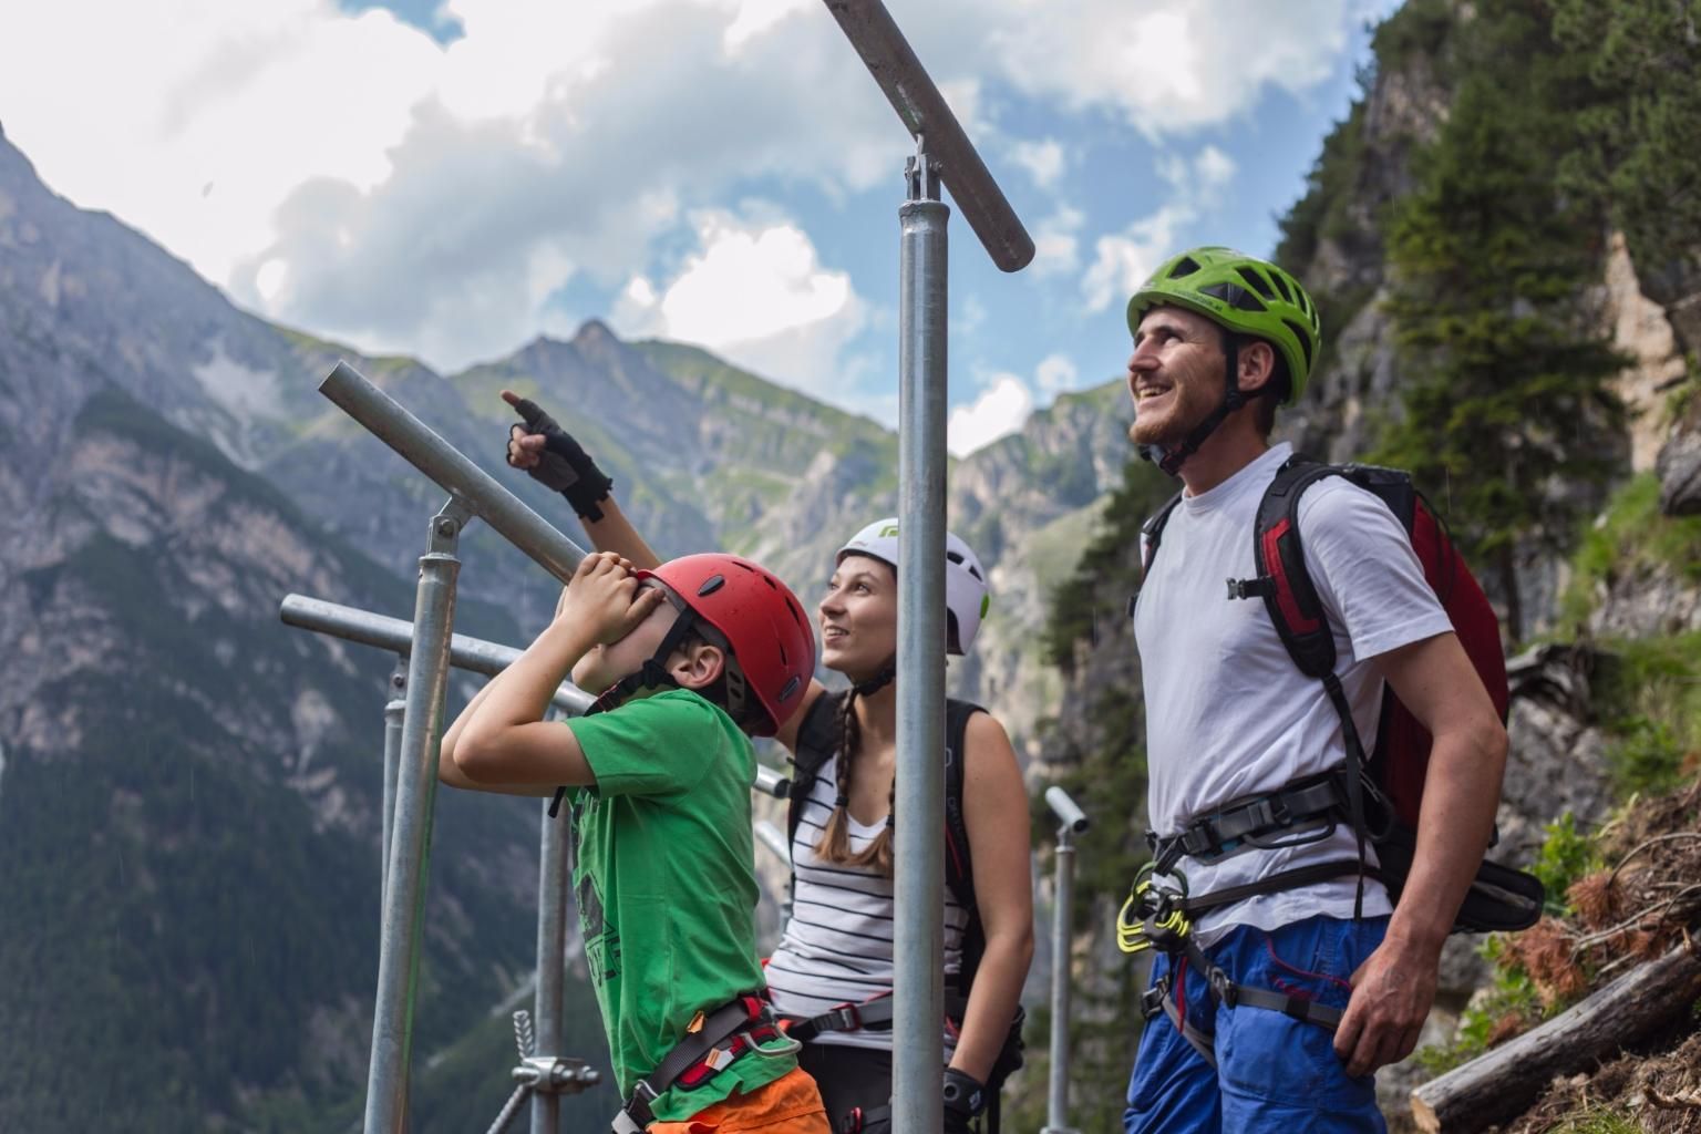
<path id="1" fill-rule="evenodd" d="M 844 697 L 842 692 L 816 697 L 803 717 L 803 724 L 798 726 L 791 785 L 786 791 L 788 848 L 798 838 L 798 825 L 808 806 L 810 791 L 839 746 L 839 707 L 844 704 Z M 975 901 L 975 864 L 970 859 L 968 823 L 963 819 L 963 753 L 968 719 L 976 712 L 985 712 L 985 709 L 968 700 L 946 700 L 946 886 L 956 903 L 968 910 L 968 925 L 963 927 L 963 962 L 956 974 L 956 986 L 947 988 L 946 996 L 947 1003 L 954 998 L 958 1005 L 968 1001 L 975 972 L 987 952 L 987 930 L 980 921 L 980 906 Z M 1015 1020 L 987 1081 L 993 1097 L 997 1097 L 1004 1080 L 1022 1066 L 1024 1020 L 1026 1013 L 1017 1006 Z"/>

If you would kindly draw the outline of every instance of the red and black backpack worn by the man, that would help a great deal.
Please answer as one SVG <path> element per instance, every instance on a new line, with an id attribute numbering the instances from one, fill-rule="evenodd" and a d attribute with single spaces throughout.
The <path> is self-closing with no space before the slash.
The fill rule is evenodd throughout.
<path id="1" fill-rule="evenodd" d="M 1318 464 L 1291 457 L 1264 490 L 1252 534 L 1257 578 L 1228 580 L 1228 597 L 1260 597 L 1294 665 L 1328 689 L 1347 741 L 1347 794 L 1351 797 L 1363 787 L 1369 804 L 1378 811 L 1380 823 L 1371 828 L 1356 802 L 1351 804 L 1354 811 L 1351 818 L 1357 833 L 1368 835 L 1376 845 L 1381 864 L 1376 874 L 1388 887 L 1390 899 L 1398 901 L 1417 847 L 1417 818 L 1432 738 L 1393 689 L 1385 687 L 1376 743 L 1368 755 L 1363 750 L 1351 707 L 1334 677 L 1335 639 L 1328 615 L 1317 597 L 1300 544 L 1300 498 L 1306 488 L 1327 476 L 1340 476 L 1369 491 L 1400 520 L 1424 566 L 1424 580 L 1436 592 L 1504 723 L 1509 690 L 1505 656 L 1500 651 L 1500 626 L 1482 585 L 1408 473 L 1369 464 Z M 1180 493 L 1141 529 L 1146 542 L 1143 566 L 1146 573 L 1158 553 L 1163 525 L 1179 500 Z M 1354 775 L 1354 765 L 1359 775 Z M 1485 859 L 1453 928 L 1454 932 L 1529 928 L 1541 916 L 1545 898 L 1543 886 L 1533 874 Z"/>

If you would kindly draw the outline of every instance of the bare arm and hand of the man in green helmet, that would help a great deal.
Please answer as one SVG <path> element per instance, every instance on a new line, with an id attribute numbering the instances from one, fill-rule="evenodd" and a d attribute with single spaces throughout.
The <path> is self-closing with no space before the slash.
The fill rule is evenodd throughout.
<path id="1" fill-rule="evenodd" d="M 1373 660 L 1429 729 L 1417 852 L 1388 937 L 1352 974 L 1352 1000 L 1335 1032 L 1347 1074 L 1369 1074 L 1412 1054 L 1436 1000 L 1441 945 L 1488 848 L 1505 728 L 1454 634 L 1436 634 Z"/>

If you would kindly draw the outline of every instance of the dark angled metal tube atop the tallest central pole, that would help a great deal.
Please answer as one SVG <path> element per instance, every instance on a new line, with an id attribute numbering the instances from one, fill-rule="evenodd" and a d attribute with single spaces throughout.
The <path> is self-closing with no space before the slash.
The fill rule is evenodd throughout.
<path id="1" fill-rule="evenodd" d="M 929 78 L 898 24 L 879 0 L 827 0 L 850 46 L 862 56 L 874 82 L 898 112 L 910 136 L 927 138 L 939 173 L 963 219 L 980 236 L 987 255 L 1004 272 L 1017 272 L 1034 258 L 1034 238 L 987 172 L 963 126 Z"/>

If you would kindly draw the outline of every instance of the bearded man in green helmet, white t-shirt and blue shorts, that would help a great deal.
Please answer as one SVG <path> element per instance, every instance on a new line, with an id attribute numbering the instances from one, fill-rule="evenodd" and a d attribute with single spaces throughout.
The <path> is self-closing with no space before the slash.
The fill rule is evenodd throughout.
<path id="1" fill-rule="evenodd" d="M 1128 326 L 1129 437 L 1184 488 L 1135 612 L 1150 821 L 1170 848 L 1225 804 L 1347 758 L 1325 683 L 1296 668 L 1262 602 L 1223 590 L 1257 575 L 1257 507 L 1291 456 L 1269 434 L 1276 406 L 1305 391 L 1320 323 L 1276 265 L 1194 248 L 1135 292 Z M 1170 949 L 1153 966 L 1148 1010 L 1169 1022 L 1153 1015 L 1145 1029 L 1129 1132 L 1385 1129 L 1373 1073 L 1417 1046 L 1441 945 L 1488 845 L 1505 731 L 1403 527 L 1371 493 L 1327 478 L 1301 496 L 1300 534 L 1357 734 L 1376 736 L 1385 682 L 1434 734 L 1415 860 L 1393 908 L 1356 869 L 1240 896 L 1361 850 L 1374 865 L 1344 821 L 1170 857 L 1155 887 L 1238 894 L 1182 930 L 1196 952 Z"/>

